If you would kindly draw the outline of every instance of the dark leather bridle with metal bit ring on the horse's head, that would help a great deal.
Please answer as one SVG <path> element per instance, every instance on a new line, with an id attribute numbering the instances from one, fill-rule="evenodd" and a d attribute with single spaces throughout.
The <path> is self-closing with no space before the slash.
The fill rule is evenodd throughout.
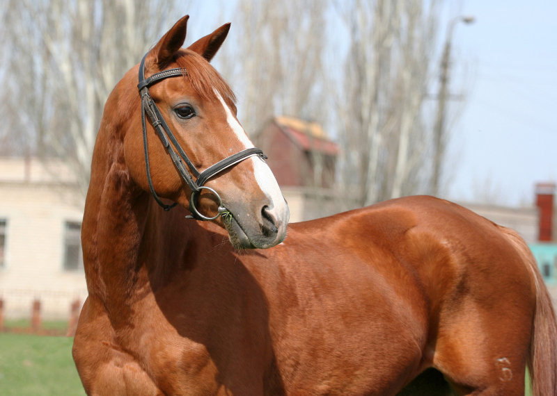
<path id="1" fill-rule="evenodd" d="M 159 81 L 162 81 L 164 79 L 168 79 L 168 77 L 185 76 L 187 74 L 187 70 L 182 69 L 180 67 L 175 69 L 167 69 L 167 70 L 163 70 L 162 72 L 155 73 L 152 76 L 150 76 L 148 79 L 146 79 L 145 59 L 147 58 L 147 55 L 148 53 L 146 53 L 146 55 L 143 56 L 143 59 L 141 60 L 141 64 L 139 65 L 139 84 L 137 85 L 137 88 L 139 89 L 139 94 L 141 96 L 141 126 L 143 127 L 143 150 L 145 153 L 145 167 L 147 171 L 147 181 L 149 184 L 149 190 L 151 191 L 153 198 L 155 198 L 155 201 L 157 201 L 157 204 L 162 206 L 164 211 L 170 211 L 171 208 L 173 208 L 178 204 L 177 202 L 171 205 L 164 204 L 159 198 L 159 196 L 157 195 L 157 192 L 155 192 L 155 188 L 153 188 L 150 166 L 149 166 L 149 153 L 147 149 L 147 129 L 146 129 L 146 121 L 145 121 L 146 113 L 151 121 L 153 129 L 155 129 L 155 133 L 157 133 L 157 135 L 159 136 L 162 145 L 164 146 L 166 152 L 172 159 L 172 162 L 176 170 L 178 170 L 178 173 L 180 174 L 182 179 L 187 183 L 189 188 L 191 188 L 191 196 L 189 197 L 189 211 L 191 212 L 191 215 L 186 217 L 193 218 L 196 220 L 214 220 L 220 215 L 223 215 L 223 213 L 226 213 L 227 210 L 223 206 L 222 199 L 217 193 L 217 191 L 213 190 L 210 187 L 205 186 L 204 185 L 205 182 L 210 178 L 212 178 L 212 176 L 222 172 L 223 170 L 228 169 L 229 167 L 233 167 L 237 163 L 240 163 L 243 160 L 245 160 L 246 158 L 249 158 L 251 156 L 259 156 L 260 158 L 265 159 L 267 157 L 265 156 L 265 154 L 263 154 L 263 151 L 261 149 L 258 149 L 256 147 L 251 147 L 249 149 L 242 150 L 239 153 L 233 154 L 227 158 L 224 158 L 223 160 L 220 160 L 219 162 L 211 165 L 210 167 L 207 167 L 207 169 L 205 169 L 203 172 L 199 172 L 194 166 L 194 164 L 191 163 L 191 160 L 188 158 L 187 154 L 180 146 L 180 143 L 178 143 L 178 140 L 176 140 L 175 135 L 168 127 L 168 124 L 166 124 L 166 121 L 164 121 L 164 118 L 162 117 L 159 108 L 157 108 L 155 101 L 153 101 L 149 95 L 150 85 L 158 83 Z M 172 145 L 168 140 L 172 142 Z M 178 153 L 176 153 L 176 151 L 178 151 Z M 186 165 L 184 165 L 184 163 L 186 163 L 187 168 Z M 196 180 L 194 180 L 194 178 Z M 200 213 L 196 208 L 196 199 L 197 196 L 201 193 L 201 190 L 207 190 L 211 192 L 212 195 L 217 197 L 218 204 L 219 204 L 217 215 L 214 215 L 213 217 L 208 217 Z"/>

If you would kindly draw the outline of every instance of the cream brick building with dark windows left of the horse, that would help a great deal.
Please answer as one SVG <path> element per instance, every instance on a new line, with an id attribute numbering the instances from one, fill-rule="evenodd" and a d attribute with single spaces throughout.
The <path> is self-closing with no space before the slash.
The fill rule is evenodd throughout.
<path id="1" fill-rule="evenodd" d="M 87 296 L 80 229 L 84 197 L 61 161 L 0 158 L 0 298 L 7 318 L 67 318 Z"/>

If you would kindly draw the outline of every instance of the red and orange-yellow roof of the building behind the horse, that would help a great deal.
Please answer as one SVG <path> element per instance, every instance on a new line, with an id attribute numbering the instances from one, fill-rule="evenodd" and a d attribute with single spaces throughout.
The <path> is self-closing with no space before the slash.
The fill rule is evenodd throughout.
<path id="1" fill-rule="evenodd" d="M 331 156 L 338 154 L 338 145 L 329 140 L 317 122 L 284 116 L 275 117 L 275 122 L 304 151 L 318 151 Z"/>

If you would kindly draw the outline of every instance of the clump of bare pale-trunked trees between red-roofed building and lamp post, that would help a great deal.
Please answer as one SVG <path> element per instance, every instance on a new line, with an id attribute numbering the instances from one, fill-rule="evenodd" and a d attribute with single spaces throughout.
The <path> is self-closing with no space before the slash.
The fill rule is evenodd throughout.
<path id="1" fill-rule="evenodd" d="M 344 188 L 356 205 L 424 189 L 437 2 L 356 0 L 337 9 L 350 31 L 338 106 Z"/>

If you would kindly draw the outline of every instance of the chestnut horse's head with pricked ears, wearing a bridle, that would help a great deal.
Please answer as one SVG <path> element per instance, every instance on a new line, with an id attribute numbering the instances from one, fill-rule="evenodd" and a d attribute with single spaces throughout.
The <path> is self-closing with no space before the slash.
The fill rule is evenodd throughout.
<path id="1" fill-rule="evenodd" d="M 230 24 L 184 49 L 187 20 L 180 19 L 129 73 L 139 74 L 142 104 L 135 90 L 133 121 L 123 120 L 125 165 L 166 210 L 171 206 L 159 197 L 223 226 L 235 248 L 272 247 L 285 238 L 288 205 L 238 122 L 232 90 L 209 63 Z M 132 92 L 129 86 L 123 91 Z"/>

